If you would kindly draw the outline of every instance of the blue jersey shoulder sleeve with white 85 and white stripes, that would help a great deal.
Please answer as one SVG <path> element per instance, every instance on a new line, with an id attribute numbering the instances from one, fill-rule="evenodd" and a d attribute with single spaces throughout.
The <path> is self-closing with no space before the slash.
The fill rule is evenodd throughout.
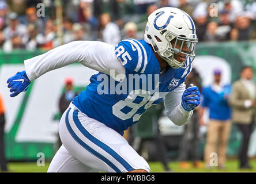
<path id="1" fill-rule="evenodd" d="M 116 57 L 129 72 L 145 70 L 145 49 L 138 40 L 127 39 L 119 42 L 115 47 Z"/>

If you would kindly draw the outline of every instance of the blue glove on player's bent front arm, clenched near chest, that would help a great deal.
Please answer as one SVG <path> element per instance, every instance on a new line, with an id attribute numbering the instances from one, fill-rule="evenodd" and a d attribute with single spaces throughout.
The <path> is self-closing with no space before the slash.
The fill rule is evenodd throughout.
<path id="1" fill-rule="evenodd" d="M 194 110 L 200 104 L 200 97 L 198 87 L 191 84 L 182 95 L 182 108 L 186 111 Z"/>

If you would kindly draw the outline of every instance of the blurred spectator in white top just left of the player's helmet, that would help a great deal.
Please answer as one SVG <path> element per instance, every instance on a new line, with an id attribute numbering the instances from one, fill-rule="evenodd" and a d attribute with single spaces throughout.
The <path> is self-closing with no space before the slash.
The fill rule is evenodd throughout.
<path id="1" fill-rule="evenodd" d="M 119 27 L 111 22 L 110 14 L 103 13 L 100 16 L 100 38 L 102 41 L 111 45 L 117 45 L 121 41 Z"/>

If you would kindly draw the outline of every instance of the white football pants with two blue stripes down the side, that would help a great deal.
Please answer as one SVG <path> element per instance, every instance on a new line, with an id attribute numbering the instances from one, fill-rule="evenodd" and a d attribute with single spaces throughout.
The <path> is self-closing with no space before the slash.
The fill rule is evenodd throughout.
<path id="1" fill-rule="evenodd" d="M 81 113 L 70 104 L 59 123 L 62 146 L 55 154 L 48 172 L 150 172 L 144 158 L 103 123 Z"/>

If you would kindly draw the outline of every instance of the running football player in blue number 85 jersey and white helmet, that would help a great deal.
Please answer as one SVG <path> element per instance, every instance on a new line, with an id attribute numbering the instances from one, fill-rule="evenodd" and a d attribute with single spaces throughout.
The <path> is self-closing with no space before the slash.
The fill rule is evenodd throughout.
<path id="1" fill-rule="evenodd" d="M 48 172 L 150 172 L 148 163 L 122 137 L 123 131 L 163 99 L 174 124 L 189 121 L 201 96 L 196 86 L 186 89 L 184 84 L 196 43 L 191 17 L 180 9 L 163 7 L 148 17 L 144 40 L 122 40 L 116 47 L 99 41 L 73 41 L 25 60 L 25 71 L 7 80 L 10 97 L 26 91 L 46 72 L 71 63 L 99 71 L 63 114 L 59 124 L 62 147 Z M 115 89 L 108 85 L 99 93 L 102 75 L 107 81 L 114 80 Z M 130 75 L 140 77 L 139 85 L 130 83 Z M 145 83 L 153 90 L 142 88 Z"/>

